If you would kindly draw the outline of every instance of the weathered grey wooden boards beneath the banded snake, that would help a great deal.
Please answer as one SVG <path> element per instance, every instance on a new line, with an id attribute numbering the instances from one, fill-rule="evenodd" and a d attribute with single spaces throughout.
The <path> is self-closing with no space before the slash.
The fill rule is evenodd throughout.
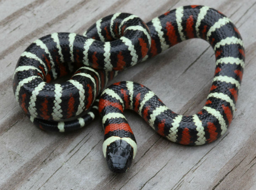
<path id="1" fill-rule="evenodd" d="M 237 111 L 226 134 L 214 143 L 171 143 L 127 111 L 138 152 L 130 171 L 117 175 L 106 166 L 98 119 L 70 134 L 47 133 L 34 127 L 15 101 L 12 73 L 22 51 L 37 38 L 53 32 L 81 34 L 114 12 L 131 12 L 149 21 L 188 3 L 225 13 L 245 44 Z M 255 0 L 0 0 L 0 189 L 256 189 L 255 22 Z M 214 65 L 210 46 L 193 39 L 127 69 L 112 83 L 142 83 L 172 110 L 193 114 L 204 105 Z"/>

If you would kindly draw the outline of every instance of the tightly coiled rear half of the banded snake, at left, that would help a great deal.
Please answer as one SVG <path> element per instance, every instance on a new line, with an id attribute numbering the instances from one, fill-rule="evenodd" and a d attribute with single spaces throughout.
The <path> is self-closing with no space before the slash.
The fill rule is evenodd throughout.
<path id="1" fill-rule="evenodd" d="M 111 25 L 115 26 L 112 32 L 118 36 L 116 40 L 110 37 Z M 42 129 L 64 132 L 88 124 L 94 118 L 89 112 L 91 105 L 107 82 L 118 70 L 140 62 L 151 44 L 148 27 L 129 13 L 102 18 L 84 35 L 46 35 L 28 46 L 17 62 L 15 98 L 31 121 Z M 77 68 L 70 80 L 49 83 Z M 62 121 L 81 114 L 84 122 L 77 122 L 76 118 L 73 124 Z"/>

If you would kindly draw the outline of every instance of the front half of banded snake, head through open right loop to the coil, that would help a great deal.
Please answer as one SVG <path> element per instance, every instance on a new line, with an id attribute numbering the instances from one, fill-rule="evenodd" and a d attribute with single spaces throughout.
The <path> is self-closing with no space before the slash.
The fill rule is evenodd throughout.
<path id="1" fill-rule="evenodd" d="M 166 12 L 147 25 L 151 38 L 158 37 L 151 39 L 148 57 L 183 40 L 202 38 L 215 51 L 215 76 L 205 106 L 192 116 L 171 111 L 138 83 L 119 82 L 104 90 L 99 101 L 105 128 L 103 153 L 113 172 L 126 172 L 137 150 L 123 115 L 125 109 L 134 110 L 160 135 L 183 145 L 202 145 L 218 139 L 226 132 L 235 111 L 245 54 L 241 36 L 229 18 L 209 7 L 194 5 Z M 128 139 L 128 145 L 124 139 Z"/>

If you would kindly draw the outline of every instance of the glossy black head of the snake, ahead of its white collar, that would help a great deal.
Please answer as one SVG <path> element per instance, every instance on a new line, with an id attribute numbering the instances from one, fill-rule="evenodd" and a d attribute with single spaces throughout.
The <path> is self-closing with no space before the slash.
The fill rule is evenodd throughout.
<path id="1" fill-rule="evenodd" d="M 133 147 L 125 140 L 113 141 L 106 147 L 108 168 L 114 173 L 125 173 L 133 160 Z"/>

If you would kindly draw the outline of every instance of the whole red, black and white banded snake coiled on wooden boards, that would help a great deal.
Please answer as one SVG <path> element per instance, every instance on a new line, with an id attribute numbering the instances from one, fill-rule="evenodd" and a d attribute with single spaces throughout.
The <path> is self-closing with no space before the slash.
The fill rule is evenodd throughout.
<path id="1" fill-rule="evenodd" d="M 120 70 L 191 38 L 208 41 L 216 58 L 210 93 L 198 113 L 179 115 L 148 88 L 134 82 L 118 82 L 102 92 Z M 44 130 L 76 130 L 99 112 L 108 167 L 123 173 L 137 151 L 123 115 L 125 109 L 137 112 L 156 132 L 175 143 L 211 143 L 232 121 L 244 61 L 238 29 L 221 12 L 207 6 L 178 7 L 146 24 L 138 16 L 115 13 L 98 20 L 83 35 L 53 33 L 34 41 L 17 62 L 13 90 L 30 120 Z M 70 80 L 49 83 L 74 69 L 78 70 Z"/>

